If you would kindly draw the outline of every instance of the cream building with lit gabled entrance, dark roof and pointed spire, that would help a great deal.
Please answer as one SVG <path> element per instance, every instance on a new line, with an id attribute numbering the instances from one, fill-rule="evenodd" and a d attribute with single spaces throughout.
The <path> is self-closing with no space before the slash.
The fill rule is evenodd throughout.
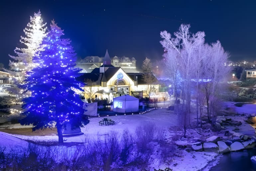
<path id="1" fill-rule="evenodd" d="M 114 97 L 122 95 L 133 95 L 133 92 L 142 92 L 142 96 L 148 96 L 148 85 L 143 81 L 142 73 L 129 73 L 127 74 L 123 68 L 114 67 L 109 64 L 109 55 L 106 52 L 103 65 L 99 68 L 94 68 L 91 73 L 84 73 L 76 79 L 85 82 L 90 79 L 94 84 L 90 84 L 84 87 L 85 92 L 89 91 L 90 94 L 94 94 L 91 98 L 108 99 L 112 102 Z M 155 85 L 155 92 L 158 92 L 159 84 Z M 91 91 L 93 90 L 93 93 Z M 103 94 L 96 93 L 100 90 L 106 90 Z M 112 91 L 109 91 L 112 90 Z M 113 93 L 113 91 L 115 93 Z M 106 93 L 109 92 L 109 93 Z M 88 94 L 87 94 L 88 95 Z M 85 94 L 85 98 L 89 98 Z"/>

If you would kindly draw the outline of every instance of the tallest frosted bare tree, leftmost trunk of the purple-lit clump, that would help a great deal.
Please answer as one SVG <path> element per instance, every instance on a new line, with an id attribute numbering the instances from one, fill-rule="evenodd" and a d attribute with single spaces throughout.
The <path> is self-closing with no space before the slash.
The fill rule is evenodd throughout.
<path id="1" fill-rule="evenodd" d="M 177 69 L 180 73 L 183 87 L 183 104 L 182 104 L 182 116 L 184 124 L 184 136 L 186 136 L 186 127 L 190 122 L 190 104 L 191 104 L 191 79 L 194 77 L 195 73 L 195 54 L 198 44 L 204 42 L 204 33 L 197 32 L 196 34 L 191 34 L 189 32 L 190 25 L 182 24 L 178 32 L 174 33 L 175 38 L 171 37 L 171 34 L 167 31 L 160 33 L 163 39 L 160 43 L 164 47 L 166 57 L 177 58 L 170 59 L 175 61 L 173 64 L 175 69 L 171 69 L 171 73 Z M 169 68 L 167 68 L 169 69 Z M 173 71 L 172 71 L 173 70 Z M 177 75 L 176 75 L 177 76 Z"/>

